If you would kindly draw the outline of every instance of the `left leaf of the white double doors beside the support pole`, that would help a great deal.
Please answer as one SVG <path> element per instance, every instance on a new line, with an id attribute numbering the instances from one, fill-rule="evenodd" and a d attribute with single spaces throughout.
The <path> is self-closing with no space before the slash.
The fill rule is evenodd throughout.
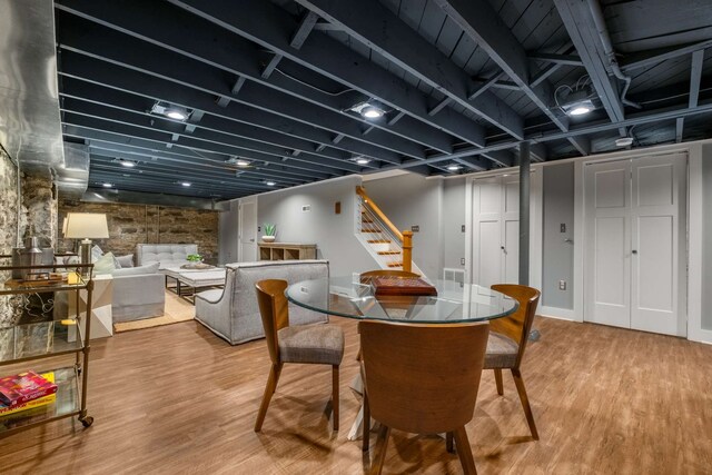
<path id="1" fill-rule="evenodd" d="M 473 185 L 473 283 L 502 281 L 502 186 L 500 178 Z"/>

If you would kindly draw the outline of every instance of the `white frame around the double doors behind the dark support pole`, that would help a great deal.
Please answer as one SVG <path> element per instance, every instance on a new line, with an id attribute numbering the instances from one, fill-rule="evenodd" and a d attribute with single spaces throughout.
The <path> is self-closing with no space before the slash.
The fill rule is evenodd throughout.
<path id="1" fill-rule="evenodd" d="M 473 232 L 473 187 L 477 180 L 502 178 L 505 175 L 518 175 L 518 168 L 501 169 L 491 172 L 476 174 L 465 182 L 465 284 L 472 284 L 474 259 Z M 532 164 L 530 175 L 530 286 L 542 288 L 543 258 L 543 188 L 544 174 L 542 164 Z M 533 250 L 533 251 L 532 251 Z"/>

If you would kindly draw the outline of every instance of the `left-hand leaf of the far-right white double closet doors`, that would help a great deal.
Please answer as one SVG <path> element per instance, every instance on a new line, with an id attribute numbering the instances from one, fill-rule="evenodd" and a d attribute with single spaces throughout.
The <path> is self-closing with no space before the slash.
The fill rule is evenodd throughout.
<path id="1" fill-rule="evenodd" d="M 584 172 L 584 320 L 631 327 L 631 165 L 587 165 Z"/>

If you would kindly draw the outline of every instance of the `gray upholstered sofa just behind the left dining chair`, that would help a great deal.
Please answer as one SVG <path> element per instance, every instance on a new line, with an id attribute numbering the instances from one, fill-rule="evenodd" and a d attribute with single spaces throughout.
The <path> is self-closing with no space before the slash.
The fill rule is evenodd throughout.
<path id="1" fill-rule="evenodd" d="M 284 279 L 289 284 L 329 276 L 327 260 L 278 260 L 228 264 L 225 289 L 196 295 L 196 320 L 230 345 L 265 336 L 255 284 Z M 326 323 L 324 314 L 289 304 L 289 325 Z"/>

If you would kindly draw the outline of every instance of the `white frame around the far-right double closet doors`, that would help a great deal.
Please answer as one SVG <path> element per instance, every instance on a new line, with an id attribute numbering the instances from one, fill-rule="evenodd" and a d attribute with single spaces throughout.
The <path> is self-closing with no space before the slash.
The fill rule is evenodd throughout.
<path id="1" fill-rule="evenodd" d="M 680 236 L 679 246 L 684 246 L 685 251 L 684 263 L 682 263 L 682 267 L 688 269 L 688 273 L 682 273 L 684 275 L 679 276 L 679 298 L 682 299 L 684 305 L 682 305 L 682 313 L 684 314 L 684 318 L 688 321 L 685 336 L 684 338 L 690 339 L 690 255 L 691 255 L 691 232 L 690 232 L 690 172 L 693 167 L 693 160 L 691 160 L 691 151 L 689 148 L 670 148 L 663 150 L 656 150 L 654 152 L 644 152 L 637 151 L 634 154 L 621 154 L 614 155 L 613 157 L 605 157 L 599 159 L 589 159 L 589 160 L 575 160 L 574 161 L 574 244 L 580 243 L 580 246 L 574 246 L 574 311 L 572 315 L 573 321 L 584 321 L 584 311 L 585 311 L 585 275 L 586 269 L 584 267 L 584 255 L 587 246 L 586 235 L 584 232 L 585 229 L 585 202 L 584 202 L 584 172 L 586 164 L 603 164 L 606 161 L 623 161 L 623 160 L 635 160 L 636 158 L 645 158 L 645 157 L 660 157 L 660 156 L 669 156 L 669 155 L 684 155 L 685 156 L 685 171 L 682 174 L 682 180 L 685 187 L 685 204 L 684 211 L 680 215 L 680 219 L 684 219 L 684 229 L 683 236 Z"/>

